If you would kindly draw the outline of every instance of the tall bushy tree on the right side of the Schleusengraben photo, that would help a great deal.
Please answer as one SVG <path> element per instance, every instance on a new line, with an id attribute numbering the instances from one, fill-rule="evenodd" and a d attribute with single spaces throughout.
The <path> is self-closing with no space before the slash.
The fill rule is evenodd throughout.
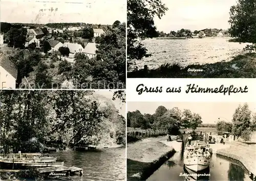
<path id="1" fill-rule="evenodd" d="M 239 105 L 233 114 L 232 133 L 241 136 L 242 132 L 250 126 L 250 119 L 251 111 L 248 108 L 248 104 L 245 103 L 244 106 Z"/>

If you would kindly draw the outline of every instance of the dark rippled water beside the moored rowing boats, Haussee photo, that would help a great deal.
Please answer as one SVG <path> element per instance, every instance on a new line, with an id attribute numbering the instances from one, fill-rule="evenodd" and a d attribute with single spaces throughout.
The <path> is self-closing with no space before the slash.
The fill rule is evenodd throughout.
<path id="1" fill-rule="evenodd" d="M 86 152 L 65 150 L 51 155 L 65 162 L 66 167 L 75 166 L 83 169 L 82 176 L 79 176 L 79 173 L 75 176 L 56 176 L 51 181 L 125 180 L 126 161 L 123 147 Z"/>

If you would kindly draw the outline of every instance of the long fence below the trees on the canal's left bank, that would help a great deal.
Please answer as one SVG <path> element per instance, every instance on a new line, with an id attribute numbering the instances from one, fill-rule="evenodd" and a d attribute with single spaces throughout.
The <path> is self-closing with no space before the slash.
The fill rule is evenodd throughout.
<path id="1" fill-rule="evenodd" d="M 127 136 L 135 137 L 135 138 L 146 138 L 146 137 L 154 137 L 167 135 L 167 130 L 134 130 L 127 132 Z"/>

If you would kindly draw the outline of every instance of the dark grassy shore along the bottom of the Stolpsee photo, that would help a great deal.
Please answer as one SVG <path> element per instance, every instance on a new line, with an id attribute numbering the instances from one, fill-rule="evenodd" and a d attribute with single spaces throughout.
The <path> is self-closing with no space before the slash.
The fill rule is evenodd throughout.
<path id="1" fill-rule="evenodd" d="M 256 53 L 238 55 L 231 61 L 210 64 L 164 64 L 156 69 L 127 72 L 129 78 L 255 78 Z"/>

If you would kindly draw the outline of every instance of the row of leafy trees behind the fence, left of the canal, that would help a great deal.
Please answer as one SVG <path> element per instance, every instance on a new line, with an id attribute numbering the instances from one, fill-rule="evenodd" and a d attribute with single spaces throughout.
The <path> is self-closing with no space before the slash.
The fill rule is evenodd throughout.
<path id="1" fill-rule="evenodd" d="M 181 128 L 195 130 L 202 124 L 199 114 L 188 109 L 181 111 L 179 108 L 166 109 L 159 106 L 154 114 L 141 114 L 139 110 L 127 112 L 127 127 L 167 130 L 169 134 L 177 135 Z"/>

